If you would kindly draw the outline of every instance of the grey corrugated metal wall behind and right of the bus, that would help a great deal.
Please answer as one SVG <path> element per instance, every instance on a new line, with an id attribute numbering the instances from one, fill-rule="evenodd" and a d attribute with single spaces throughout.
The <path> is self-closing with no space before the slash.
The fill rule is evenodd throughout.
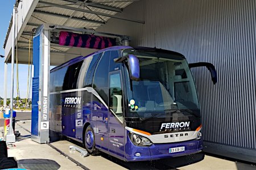
<path id="1" fill-rule="evenodd" d="M 192 70 L 204 140 L 256 149 L 256 1 L 147 0 L 122 15 L 146 24 L 112 20 L 100 30 L 130 35 L 131 45 L 180 52 L 190 63 L 213 63 L 215 86 L 206 68 Z"/>

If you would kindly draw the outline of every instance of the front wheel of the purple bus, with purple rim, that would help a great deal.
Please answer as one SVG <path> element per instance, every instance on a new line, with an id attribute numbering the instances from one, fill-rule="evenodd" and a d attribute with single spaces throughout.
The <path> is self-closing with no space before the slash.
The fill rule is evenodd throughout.
<path id="1" fill-rule="evenodd" d="M 84 146 L 90 155 L 98 154 L 95 147 L 95 135 L 92 126 L 88 126 L 84 134 Z"/>

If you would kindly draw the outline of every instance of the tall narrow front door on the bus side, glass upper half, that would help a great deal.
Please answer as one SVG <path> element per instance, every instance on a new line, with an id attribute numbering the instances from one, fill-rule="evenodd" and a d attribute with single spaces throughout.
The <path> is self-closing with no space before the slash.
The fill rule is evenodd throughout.
<path id="1" fill-rule="evenodd" d="M 121 71 L 109 73 L 109 154 L 124 157 L 123 91 Z"/>

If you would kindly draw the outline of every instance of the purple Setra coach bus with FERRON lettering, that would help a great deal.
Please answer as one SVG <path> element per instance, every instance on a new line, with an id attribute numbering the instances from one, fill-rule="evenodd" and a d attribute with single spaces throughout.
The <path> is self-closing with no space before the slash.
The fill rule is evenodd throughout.
<path id="1" fill-rule="evenodd" d="M 112 46 L 51 70 L 49 129 L 126 162 L 196 154 L 203 149 L 192 67 L 170 50 Z"/>

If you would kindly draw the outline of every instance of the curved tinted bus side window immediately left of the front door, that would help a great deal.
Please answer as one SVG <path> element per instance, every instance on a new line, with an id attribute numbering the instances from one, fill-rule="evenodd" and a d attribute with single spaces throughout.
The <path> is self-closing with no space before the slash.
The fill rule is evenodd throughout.
<path id="1" fill-rule="evenodd" d="M 106 104 L 108 104 L 109 58 L 110 51 L 105 52 L 98 63 L 93 80 L 93 88 L 98 92 Z"/>

